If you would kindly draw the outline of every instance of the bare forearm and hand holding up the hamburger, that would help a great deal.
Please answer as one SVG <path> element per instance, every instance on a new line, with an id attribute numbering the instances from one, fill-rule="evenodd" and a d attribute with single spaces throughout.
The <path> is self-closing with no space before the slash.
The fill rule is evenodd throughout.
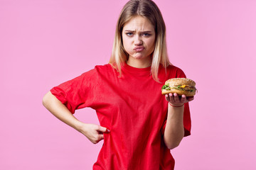
<path id="1" fill-rule="evenodd" d="M 166 128 L 164 130 L 164 143 L 169 149 L 174 149 L 178 147 L 184 136 L 184 103 L 193 101 L 193 97 L 186 97 L 185 95 L 179 97 L 178 94 L 166 94 L 166 101 L 169 104 Z"/>

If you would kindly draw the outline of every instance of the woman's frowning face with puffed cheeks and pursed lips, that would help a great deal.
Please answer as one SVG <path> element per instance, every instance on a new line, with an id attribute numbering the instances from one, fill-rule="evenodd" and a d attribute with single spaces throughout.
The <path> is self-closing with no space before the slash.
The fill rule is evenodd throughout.
<path id="1" fill-rule="evenodd" d="M 145 17 L 135 16 L 125 23 L 122 41 L 129 60 L 149 60 L 154 51 L 155 37 L 154 26 Z"/>

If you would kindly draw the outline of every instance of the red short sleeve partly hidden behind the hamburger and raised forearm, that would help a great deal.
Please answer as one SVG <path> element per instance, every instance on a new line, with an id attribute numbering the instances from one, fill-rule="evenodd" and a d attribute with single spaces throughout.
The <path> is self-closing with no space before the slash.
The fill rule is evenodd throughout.
<path id="1" fill-rule="evenodd" d="M 170 77 L 176 77 L 176 78 L 186 78 L 186 74 L 176 67 L 175 76 Z M 171 79 L 171 78 L 169 78 Z M 189 103 L 184 104 L 184 112 L 183 112 L 183 126 L 184 126 L 184 137 L 191 135 L 191 114 L 189 110 Z M 164 121 L 164 124 L 161 128 L 161 133 L 164 134 L 164 130 L 166 128 L 166 120 Z"/>

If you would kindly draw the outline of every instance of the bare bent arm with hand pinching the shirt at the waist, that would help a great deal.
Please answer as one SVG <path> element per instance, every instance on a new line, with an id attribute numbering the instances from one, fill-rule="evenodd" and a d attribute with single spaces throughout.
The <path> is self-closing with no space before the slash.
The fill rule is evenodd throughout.
<path id="1" fill-rule="evenodd" d="M 80 120 L 75 118 L 68 108 L 63 105 L 58 98 L 51 94 L 50 91 L 43 96 L 43 106 L 45 106 L 50 113 L 55 115 L 56 118 L 81 132 L 94 144 L 103 140 L 103 133 L 110 132 L 110 130 L 101 127 L 100 125 L 82 123 Z"/>

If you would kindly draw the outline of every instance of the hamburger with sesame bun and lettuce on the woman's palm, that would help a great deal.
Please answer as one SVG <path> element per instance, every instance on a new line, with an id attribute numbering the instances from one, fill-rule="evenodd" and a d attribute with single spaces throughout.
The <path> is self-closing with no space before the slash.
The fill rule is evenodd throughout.
<path id="1" fill-rule="evenodd" d="M 194 96 L 196 91 L 196 82 L 186 78 L 169 79 L 161 88 L 161 94 L 176 93 L 178 96 Z"/>

